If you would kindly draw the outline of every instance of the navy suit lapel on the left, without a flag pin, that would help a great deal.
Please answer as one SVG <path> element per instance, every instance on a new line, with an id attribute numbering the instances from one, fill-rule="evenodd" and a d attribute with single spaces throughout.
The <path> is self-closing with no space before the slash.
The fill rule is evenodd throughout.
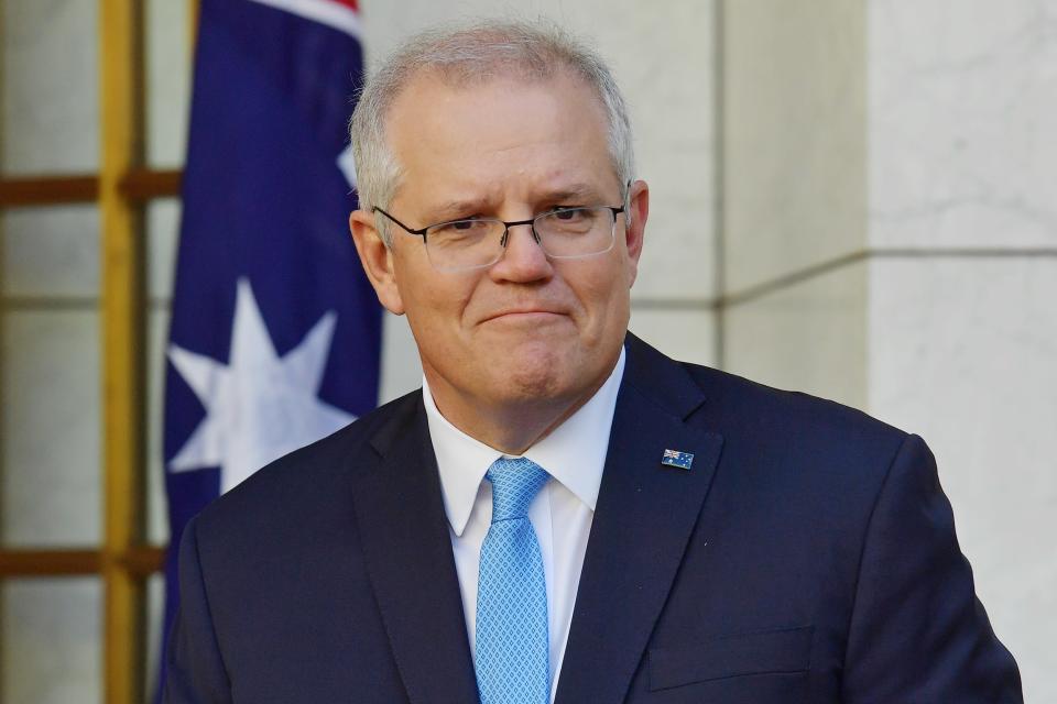
<path id="1" fill-rule="evenodd" d="M 476 702 L 458 576 L 421 396 L 384 424 L 355 477 L 368 572 L 412 702 Z"/>

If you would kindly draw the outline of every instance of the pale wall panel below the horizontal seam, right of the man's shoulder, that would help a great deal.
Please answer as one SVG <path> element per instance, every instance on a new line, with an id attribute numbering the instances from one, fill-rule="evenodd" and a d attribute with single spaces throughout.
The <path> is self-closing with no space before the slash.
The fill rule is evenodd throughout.
<path id="1" fill-rule="evenodd" d="M 939 463 L 977 593 L 1026 702 L 1057 701 L 1057 260 L 870 268 L 870 411 Z"/>

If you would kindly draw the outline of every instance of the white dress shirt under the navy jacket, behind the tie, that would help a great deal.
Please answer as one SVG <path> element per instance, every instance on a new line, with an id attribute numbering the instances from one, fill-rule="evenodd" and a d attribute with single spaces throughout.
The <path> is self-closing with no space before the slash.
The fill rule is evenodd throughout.
<path id="1" fill-rule="evenodd" d="M 551 475 L 530 504 L 528 519 L 540 540 L 547 583 L 552 702 L 558 688 L 580 569 L 609 448 L 617 392 L 623 375 L 624 350 L 621 349 L 617 366 L 590 400 L 522 455 Z M 440 472 L 444 508 L 462 591 L 466 632 L 476 661 L 477 580 L 481 543 L 492 522 L 492 485 L 483 481 L 484 473 L 492 462 L 511 455 L 475 440 L 448 422 L 437 410 L 425 380 L 422 382 L 422 399 Z"/>

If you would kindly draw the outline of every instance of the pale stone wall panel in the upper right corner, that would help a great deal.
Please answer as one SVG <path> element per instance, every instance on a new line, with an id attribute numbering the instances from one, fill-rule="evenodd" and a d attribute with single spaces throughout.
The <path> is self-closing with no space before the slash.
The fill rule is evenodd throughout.
<path id="1" fill-rule="evenodd" d="M 870 2 L 874 246 L 1057 245 L 1057 6 Z"/>

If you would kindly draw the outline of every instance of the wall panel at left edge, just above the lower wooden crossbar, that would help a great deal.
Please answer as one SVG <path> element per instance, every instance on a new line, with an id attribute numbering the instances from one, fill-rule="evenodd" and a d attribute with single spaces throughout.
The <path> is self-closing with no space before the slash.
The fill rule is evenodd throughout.
<path id="1" fill-rule="evenodd" d="M 0 537 L 8 546 L 102 540 L 99 315 L 0 318 Z"/>

